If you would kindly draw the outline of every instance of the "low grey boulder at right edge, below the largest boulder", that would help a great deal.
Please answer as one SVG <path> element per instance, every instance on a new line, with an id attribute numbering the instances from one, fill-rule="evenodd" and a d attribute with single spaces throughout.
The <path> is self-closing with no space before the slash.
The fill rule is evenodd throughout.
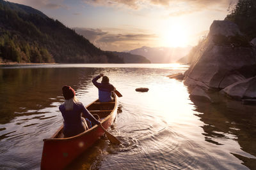
<path id="1" fill-rule="evenodd" d="M 237 81 L 223 89 L 223 92 L 234 99 L 256 99 L 256 76 Z"/>

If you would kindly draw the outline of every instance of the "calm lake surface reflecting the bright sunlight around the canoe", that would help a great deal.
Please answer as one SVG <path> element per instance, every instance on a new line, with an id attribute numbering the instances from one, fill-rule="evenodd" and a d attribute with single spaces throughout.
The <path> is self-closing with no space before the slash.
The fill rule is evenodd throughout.
<path id="1" fill-rule="evenodd" d="M 0 169 L 40 169 L 43 139 L 63 123 L 61 87 L 84 105 L 97 99 L 99 73 L 123 95 L 106 137 L 67 169 L 256 169 L 256 106 L 212 95 L 193 101 L 177 64 L 50 64 L 0 67 Z M 147 87 L 148 92 L 136 92 Z"/>

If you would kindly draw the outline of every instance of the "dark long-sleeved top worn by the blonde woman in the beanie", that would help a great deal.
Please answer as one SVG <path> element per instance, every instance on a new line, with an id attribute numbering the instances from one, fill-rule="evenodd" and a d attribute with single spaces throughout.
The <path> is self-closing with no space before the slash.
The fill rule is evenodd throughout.
<path id="1" fill-rule="evenodd" d="M 82 124 L 81 113 L 83 113 L 84 118 L 88 118 L 94 124 L 100 124 L 100 122 L 96 120 L 86 108 L 84 108 L 82 103 L 74 104 L 73 110 L 67 111 L 63 104 L 60 105 L 59 109 L 64 118 L 63 134 L 65 138 L 75 136 L 85 131 Z"/>

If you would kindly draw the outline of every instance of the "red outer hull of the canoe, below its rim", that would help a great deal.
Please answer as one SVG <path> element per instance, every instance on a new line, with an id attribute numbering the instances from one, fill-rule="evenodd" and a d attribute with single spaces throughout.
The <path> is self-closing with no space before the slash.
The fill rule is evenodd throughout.
<path id="1" fill-rule="evenodd" d="M 102 121 L 102 126 L 108 129 L 115 121 L 116 115 L 117 107 L 115 104 L 111 114 Z M 88 131 L 71 138 L 44 139 L 41 169 L 63 169 L 103 135 L 104 131 L 95 125 Z"/>

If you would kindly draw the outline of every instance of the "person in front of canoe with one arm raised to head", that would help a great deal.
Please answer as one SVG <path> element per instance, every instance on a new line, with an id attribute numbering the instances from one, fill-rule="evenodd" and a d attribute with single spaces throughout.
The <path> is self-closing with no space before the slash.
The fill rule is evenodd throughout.
<path id="1" fill-rule="evenodd" d="M 101 83 L 98 83 L 97 80 L 102 77 Z M 108 76 L 100 73 L 99 76 L 96 76 L 92 80 L 93 85 L 99 89 L 99 101 L 100 102 L 109 102 L 112 101 L 111 92 L 115 91 L 115 87 L 109 83 Z"/>

